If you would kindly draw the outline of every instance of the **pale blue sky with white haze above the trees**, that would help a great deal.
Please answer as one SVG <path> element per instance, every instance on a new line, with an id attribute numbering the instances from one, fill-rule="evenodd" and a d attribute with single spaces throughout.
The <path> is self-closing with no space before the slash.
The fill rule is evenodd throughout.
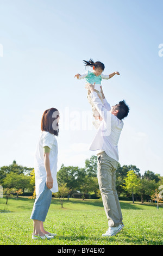
<path id="1" fill-rule="evenodd" d="M 96 131 L 85 82 L 74 75 L 85 71 L 83 59 L 93 58 L 105 64 L 104 74 L 120 72 L 103 81 L 109 103 L 125 99 L 130 106 L 120 164 L 163 175 L 162 7 L 161 0 L 0 0 L 0 166 L 13 160 L 34 166 L 41 116 L 55 107 L 58 168 L 84 167 Z"/>

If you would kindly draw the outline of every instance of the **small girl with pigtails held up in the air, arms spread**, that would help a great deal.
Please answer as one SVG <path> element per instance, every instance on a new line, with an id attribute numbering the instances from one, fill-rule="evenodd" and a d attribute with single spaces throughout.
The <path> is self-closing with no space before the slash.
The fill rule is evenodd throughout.
<path id="1" fill-rule="evenodd" d="M 93 68 L 93 72 L 87 70 L 84 74 L 82 74 L 82 75 L 77 74 L 74 77 L 77 77 L 79 80 L 85 78 L 86 83 L 91 83 L 91 84 L 95 83 L 95 90 L 99 96 L 99 99 L 101 99 L 101 101 L 103 102 L 101 88 L 100 88 L 102 79 L 109 79 L 116 74 L 120 75 L 120 73 L 114 72 L 110 75 L 104 75 L 104 74 L 102 74 L 102 72 L 104 71 L 105 66 L 102 62 L 93 62 L 92 59 L 90 59 L 89 61 L 83 60 L 83 62 L 85 64 L 85 66 L 91 66 Z M 87 88 L 87 84 L 85 85 L 85 88 Z M 92 99 L 90 96 L 90 90 L 88 90 L 88 92 L 87 92 L 87 99 L 88 99 L 89 103 L 91 104 L 93 117 L 95 117 L 96 120 L 100 119 L 101 117 L 100 117 L 95 105 L 92 102 Z"/>

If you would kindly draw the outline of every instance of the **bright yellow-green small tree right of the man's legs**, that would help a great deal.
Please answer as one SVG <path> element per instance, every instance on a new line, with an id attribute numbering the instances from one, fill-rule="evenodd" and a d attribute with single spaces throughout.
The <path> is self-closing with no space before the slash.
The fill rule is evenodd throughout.
<path id="1" fill-rule="evenodd" d="M 135 174 L 134 170 L 129 170 L 127 173 L 127 177 L 124 178 L 124 190 L 128 191 L 132 194 L 133 197 L 133 204 L 134 204 L 134 193 L 137 192 L 137 188 L 140 186 L 140 178 Z"/>

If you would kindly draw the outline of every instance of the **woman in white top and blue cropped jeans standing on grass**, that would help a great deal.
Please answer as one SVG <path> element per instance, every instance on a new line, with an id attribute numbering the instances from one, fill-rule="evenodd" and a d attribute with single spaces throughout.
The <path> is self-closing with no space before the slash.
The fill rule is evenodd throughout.
<path id="1" fill-rule="evenodd" d="M 32 239 L 51 239 L 56 234 L 43 228 L 51 204 L 52 192 L 58 192 L 57 159 L 59 112 L 56 108 L 47 109 L 41 119 L 41 135 L 35 154 L 36 199 L 30 218 L 34 221 Z"/>

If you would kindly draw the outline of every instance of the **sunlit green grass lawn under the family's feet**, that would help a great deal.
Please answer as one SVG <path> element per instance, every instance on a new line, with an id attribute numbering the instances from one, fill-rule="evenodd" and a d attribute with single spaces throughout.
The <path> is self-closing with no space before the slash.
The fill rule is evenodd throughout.
<path id="1" fill-rule="evenodd" d="M 6 206 L 5 198 L 0 198 L 0 245 L 163 245 L 163 208 L 120 203 L 124 228 L 116 236 L 102 237 L 108 221 L 101 199 L 65 199 L 61 208 L 59 199 L 52 198 L 44 226 L 57 237 L 32 240 L 34 200 L 9 198 Z"/>

